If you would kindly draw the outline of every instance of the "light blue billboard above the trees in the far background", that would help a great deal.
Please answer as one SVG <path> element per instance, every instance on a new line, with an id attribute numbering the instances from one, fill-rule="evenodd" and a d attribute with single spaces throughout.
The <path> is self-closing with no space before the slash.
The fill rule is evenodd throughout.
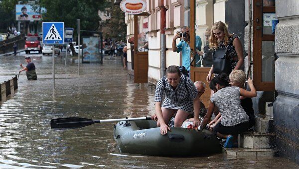
<path id="1" fill-rule="evenodd" d="M 45 8 L 41 10 L 45 11 Z M 41 14 L 35 12 L 29 4 L 16 4 L 15 20 L 41 20 Z"/>

